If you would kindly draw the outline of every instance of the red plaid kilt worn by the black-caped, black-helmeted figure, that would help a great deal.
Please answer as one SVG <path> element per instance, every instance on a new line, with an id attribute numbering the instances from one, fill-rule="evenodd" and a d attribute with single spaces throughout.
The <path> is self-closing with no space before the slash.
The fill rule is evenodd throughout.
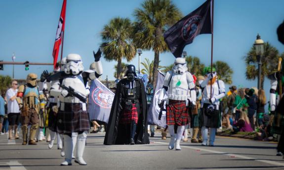
<path id="1" fill-rule="evenodd" d="M 122 110 L 122 117 L 120 119 L 121 124 L 130 124 L 132 121 L 138 122 L 138 112 L 135 103 L 132 103 L 131 110 Z"/>

